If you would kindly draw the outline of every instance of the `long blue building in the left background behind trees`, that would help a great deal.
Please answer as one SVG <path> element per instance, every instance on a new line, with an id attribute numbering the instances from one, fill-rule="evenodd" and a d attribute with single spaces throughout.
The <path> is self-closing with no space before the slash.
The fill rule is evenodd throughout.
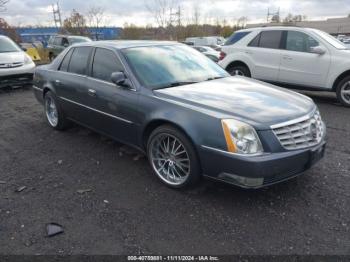
<path id="1" fill-rule="evenodd" d="M 40 41 L 44 46 L 47 45 L 51 36 L 59 33 L 57 27 L 36 27 L 36 28 L 15 28 L 17 34 L 21 37 L 21 42 L 33 43 Z M 113 40 L 118 39 L 122 33 L 120 27 L 102 27 L 102 28 L 87 28 L 90 37 L 94 40 Z"/>

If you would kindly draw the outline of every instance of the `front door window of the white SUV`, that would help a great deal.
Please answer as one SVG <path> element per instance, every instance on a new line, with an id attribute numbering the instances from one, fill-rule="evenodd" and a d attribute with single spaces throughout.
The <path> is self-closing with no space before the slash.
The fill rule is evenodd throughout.
<path id="1" fill-rule="evenodd" d="M 297 52 L 311 52 L 311 48 L 319 43 L 311 36 L 297 31 L 288 31 L 286 49 Z"/>

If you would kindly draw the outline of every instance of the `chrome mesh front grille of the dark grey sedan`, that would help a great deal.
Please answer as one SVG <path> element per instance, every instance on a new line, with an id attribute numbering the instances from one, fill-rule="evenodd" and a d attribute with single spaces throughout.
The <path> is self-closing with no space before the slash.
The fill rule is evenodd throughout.
<path id="1" fill-rule="evenodd" d="M 282 147 L 287 150 L 304 149 L 318 145 L 325 133 L 318 110 L 312 116 L 277 125 L 272 127 L 272 130 Z"/>

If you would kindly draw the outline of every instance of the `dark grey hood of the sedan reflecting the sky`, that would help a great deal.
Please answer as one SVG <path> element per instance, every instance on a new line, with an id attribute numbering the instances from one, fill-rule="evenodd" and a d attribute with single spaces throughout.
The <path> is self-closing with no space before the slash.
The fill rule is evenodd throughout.
<path id="1" fill-rule="evenodd" d="M 259 130 L 305 116 L 316 107 L 304 95 L 245 77 L 227 77 L 154 92 L 159 98 L 215 117 L 244 121 Z"/>

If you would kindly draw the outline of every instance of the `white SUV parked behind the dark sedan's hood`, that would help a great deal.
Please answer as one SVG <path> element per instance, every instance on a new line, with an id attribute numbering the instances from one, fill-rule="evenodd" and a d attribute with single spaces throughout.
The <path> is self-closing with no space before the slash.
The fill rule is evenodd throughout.
<path id="1" fill-rule="evenodd" d="M 222 47 L 219 64 L 232 75 L 337 93 L 350 107 L 350 50 L 316 29 L 263 27 L 240 30 Z"/>

